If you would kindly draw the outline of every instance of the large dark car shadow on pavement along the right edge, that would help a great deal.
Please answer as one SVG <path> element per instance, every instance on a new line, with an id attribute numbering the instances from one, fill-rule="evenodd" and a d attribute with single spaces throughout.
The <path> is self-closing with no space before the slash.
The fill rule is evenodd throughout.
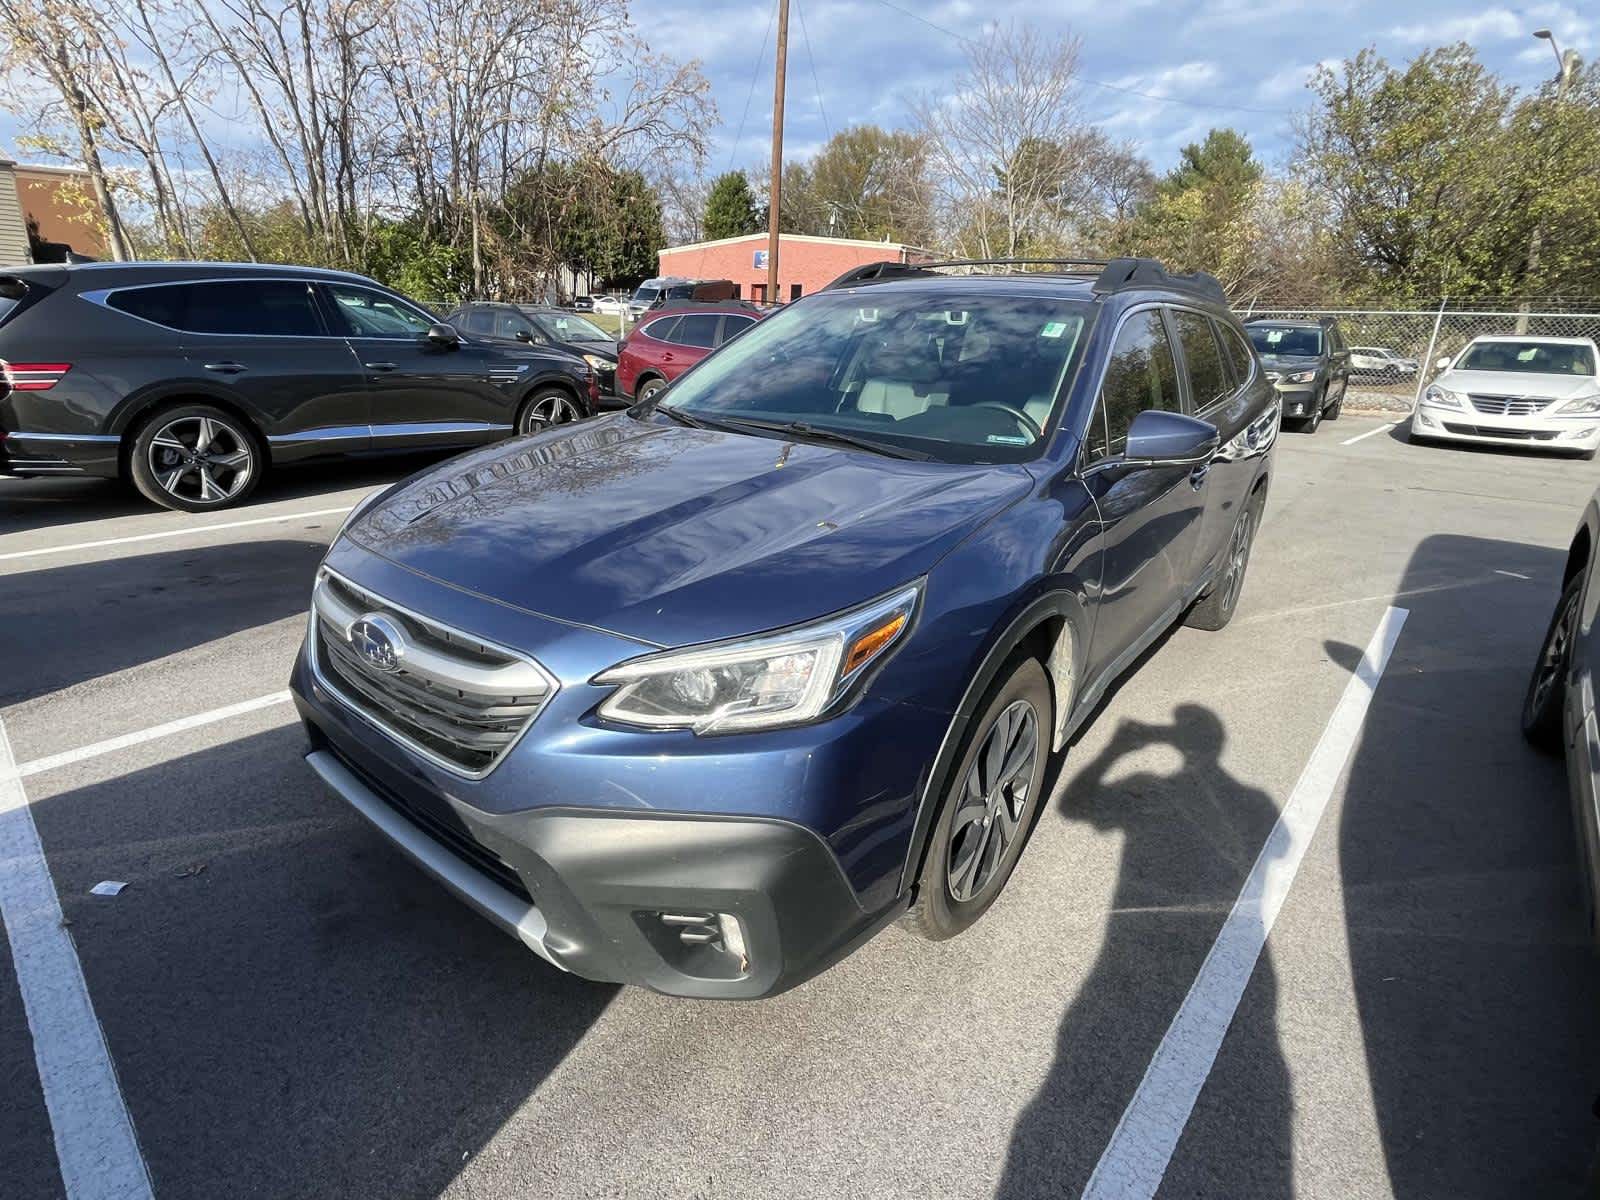
<path id="1" fill-rule="evenodd" d="M 1565 560 L 1435 534 L 1394 602 L 1410 616 L 1336 834 L 1394 1195 L 1576 1197 L 1600 1133 L 1600 970 L 1566 776 L 1518 728 Z"/>

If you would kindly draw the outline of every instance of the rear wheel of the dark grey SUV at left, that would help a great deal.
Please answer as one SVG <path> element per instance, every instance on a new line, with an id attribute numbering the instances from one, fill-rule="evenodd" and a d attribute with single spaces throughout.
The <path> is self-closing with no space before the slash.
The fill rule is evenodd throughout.
<path id="1" fill-rule="evenodd" d="M 128 445 L 128 475 L 163 509 L 216 512 L 245 501 L 267 454 L 246 421 L 214 405 L 170 405 L 139 426 Z"/>

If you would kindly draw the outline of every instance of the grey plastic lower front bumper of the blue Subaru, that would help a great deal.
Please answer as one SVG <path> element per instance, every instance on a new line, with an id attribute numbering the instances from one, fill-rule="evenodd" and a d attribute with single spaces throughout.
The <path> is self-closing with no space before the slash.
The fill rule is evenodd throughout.
<path id="1" fill-rule="evenodd" d="M 486 813 L 392 786 L 296 693 L 322 781 L 395 848 L 541 958 L 586 979 L 744 1000 L 787 990 L 899 915 L 861 909 L 838 861 L 787 821 Z"/>

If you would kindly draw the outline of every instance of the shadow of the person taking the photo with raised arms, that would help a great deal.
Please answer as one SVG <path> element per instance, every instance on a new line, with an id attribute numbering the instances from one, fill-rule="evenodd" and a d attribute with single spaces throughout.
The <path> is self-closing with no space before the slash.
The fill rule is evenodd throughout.
<path id="1" fill-rule="evenodd" d="M 1166 725 L 1123 720 L 1091 762 L 1072 760 L 1059 811 L 1120 832 L 1122 862 L 1099 957 L 1061 1021 L 1050 1074 L 1013 1130 L 1002 1200 L 1083 1189 L 1277 821 L 1272 797 L 1222 766 L 1224 746 L 1214 712 L 1181 704 Z M 1160 747 L 1176 755 L 1176 770 L 1118 770 Z M 1250 1043 L 1250 1078 L 1234 1094 L 1246 1106 L 1237 1117 L 1250 1126 L 1246 1162 L 1259 1195 L 1293 1192 L 1275 995 L 1267 949 L 1248 1011 L 1240 1008 L 1229 1034 Z M 1210 1152 L 1203 1160 L 1202 1170 L 1238 1163 Z M 1195 1194 L 1229 1194 L 1238 1178 L 1200 1179 Z"/>

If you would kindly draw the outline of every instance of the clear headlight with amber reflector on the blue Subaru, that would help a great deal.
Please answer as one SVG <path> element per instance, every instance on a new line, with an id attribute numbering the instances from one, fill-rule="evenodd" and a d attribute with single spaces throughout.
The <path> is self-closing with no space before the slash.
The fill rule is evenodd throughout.
<path id="1" fill-rule="evenodd" d="M 920 597 L 915 582 L 800 629 L 624 662 L 594 680 L 618 685 L 600 715 L 694 733 L 803 725 L 904 640 Z"/>

